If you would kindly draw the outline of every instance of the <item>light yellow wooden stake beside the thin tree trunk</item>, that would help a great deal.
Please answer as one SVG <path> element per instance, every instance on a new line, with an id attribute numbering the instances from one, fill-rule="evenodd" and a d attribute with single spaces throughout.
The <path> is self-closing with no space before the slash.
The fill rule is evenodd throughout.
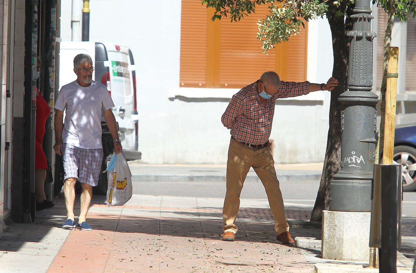
<path id="1" fill-rule="evenodd" d="M 394 127 L 396 123 L 397 67 L 399 47 L 389 48 L 387 64 L 386 114 L 384 119 L 384 145 L 382 164 L 393 164 Z"/>

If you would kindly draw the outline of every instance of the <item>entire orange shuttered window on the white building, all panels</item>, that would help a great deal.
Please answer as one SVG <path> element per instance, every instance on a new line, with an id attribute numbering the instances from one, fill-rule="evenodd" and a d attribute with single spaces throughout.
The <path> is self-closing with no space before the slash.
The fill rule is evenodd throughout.
<path id="1" fill-rule="evenodd" d="M 307 29 L 302 28 L 300 34 L 276 45 L 276 49 L 269 50 L 266 55 L 262 53 L 261 42 L 256 36 L 258 20 L 269 12 L 267 5 L 260 5 L 255 13 L 245 16 L 240 22 L 230 22 L 228 18 L 212 22 L 213 10 L 207 10 L 194 1 L 183 0 L 180 86 L 198 86 L 203 82 L 201 87 L 241 88 L 259 79 L 265 71 L 276 71 L 285 81 L 305 81 Z M 191 18 L 195 21 L 186 21 Z M 197 27 L 203 30 L 201 33 L 206 33 L 205 40 L 199 36 L 197 39 L 190 38 Z M 188 33 L 190 30 L 193 32 Z M 205 49 L 202 45 L 189 44 L 196 40 L 201 44 L 205 42 Z M 204 74 L 199 70 L 201 67 L 193 70 L 196 62 L 205 65 L 204 79 L 201 79 Z"/>

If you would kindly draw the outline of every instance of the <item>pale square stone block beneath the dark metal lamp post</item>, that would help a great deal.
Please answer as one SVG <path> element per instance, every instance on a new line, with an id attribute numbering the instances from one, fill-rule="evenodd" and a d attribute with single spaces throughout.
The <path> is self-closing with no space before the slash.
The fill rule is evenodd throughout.
<path id="1" fill-rule="evenodd" d="M 322 258 L 369 261 L 370 212 L 323 211 Z"/>

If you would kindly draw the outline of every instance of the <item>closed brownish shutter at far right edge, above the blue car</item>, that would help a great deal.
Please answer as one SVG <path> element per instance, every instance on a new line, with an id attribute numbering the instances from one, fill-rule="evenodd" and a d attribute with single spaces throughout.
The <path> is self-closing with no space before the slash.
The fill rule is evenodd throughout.
<path id="1" fill-rule="evenodd" d="M 407 21 L 406 91 L 416 91 L 416 19 Z"/>

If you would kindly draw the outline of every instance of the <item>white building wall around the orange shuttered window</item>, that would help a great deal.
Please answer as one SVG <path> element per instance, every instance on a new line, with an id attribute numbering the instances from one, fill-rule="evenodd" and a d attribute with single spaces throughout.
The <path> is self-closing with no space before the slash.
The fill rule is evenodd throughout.
<path id="1" fill-rule="evenodd" d="M 225 164 L 230 133 L 220 117 L 238 90 L 202 88 L 189 94 L 190 89 L 179 88 L 181 1 L 95 0 L 90 9 L 89 40 L 120 43 L 133 53 L 142 161 Z M 70 10 L 71 0 L 62 0 L 63 40 L 71 39 Z M 332 74 L 327 25 L 325 19 L 309 24 L 311 82 L 326 82 Z M 277 101 L 270 137 L 276 163 L 323 161 L 328 110 L 325 91 Z"/>

